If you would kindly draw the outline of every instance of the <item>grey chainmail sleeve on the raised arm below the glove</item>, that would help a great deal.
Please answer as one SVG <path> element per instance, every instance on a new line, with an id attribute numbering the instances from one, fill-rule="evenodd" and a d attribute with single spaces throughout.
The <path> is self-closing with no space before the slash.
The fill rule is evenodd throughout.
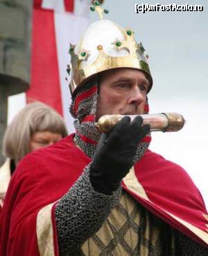
<path id="1" fill-rule="evenodd" d="M 60 256 L 76 253 L 119 202 L 121 186 L 112 195 L 94 191 L 89 181 L 89 166 L 55 207 Z"/>

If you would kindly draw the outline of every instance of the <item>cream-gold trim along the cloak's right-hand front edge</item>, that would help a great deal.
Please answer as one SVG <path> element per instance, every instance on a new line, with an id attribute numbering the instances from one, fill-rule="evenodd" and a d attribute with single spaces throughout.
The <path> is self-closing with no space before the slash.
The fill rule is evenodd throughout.
<path id="1" fill-rule="evenodd" d="M 150 199 L 148 198 L 148 195 L 146 194 L 144 187 L 141 185 L 141 183 L 138 181 L 135 175 L 134 167 L 130 169 L 130 172 L 128 173 L 128 175 L 125 176 L 125 178 L 123 179 L 123 182 L 125 186 L 127 186 L 127 188 L 130 189 L 130 191 L 136 193 L 137 195 L 139 195 L 141 198 L 144 198 L 148 202 L 151 202 Z M 182 220 L 182 218 L 178 218 L 177 216 L 169 213 L 168 211 L 165 211 L 164 209 L 162 210 L 166 212 L 166 214 L 174 218 L 175 221 L 177 221 L 178 223 L 181 223 L 182 225 L 184 225 L 184 227 L 187 227 L 189 230 L 191 230 L 191 232 L 193 232 L 193 234 L 196 234 L 197 237 L 199 237 L 202 241 L 208 244 L 207 232 L 200 230 L 200 228 L 195 227 L 194 225 L 188 223 L 187 221 Z M 203 215 L 207 216 L 207 214 L 203 214 Z"/>

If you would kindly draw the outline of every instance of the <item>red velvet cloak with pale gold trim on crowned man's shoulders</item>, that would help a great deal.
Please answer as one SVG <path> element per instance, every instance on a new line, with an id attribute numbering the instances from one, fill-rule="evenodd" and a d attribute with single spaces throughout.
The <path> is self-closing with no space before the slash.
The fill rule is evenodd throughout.
<path id="1" fill-rule="evenodd" d="M 72 140 L 73 134 L 28 154 L 17 166 L 1 211 L 1 256 L 58 256 L 55 202 L 91 161 Z M 207 246 L 205 204 L 180 166 L 148 150 L 123 179 L 123 189 L 153 214 Z"/>

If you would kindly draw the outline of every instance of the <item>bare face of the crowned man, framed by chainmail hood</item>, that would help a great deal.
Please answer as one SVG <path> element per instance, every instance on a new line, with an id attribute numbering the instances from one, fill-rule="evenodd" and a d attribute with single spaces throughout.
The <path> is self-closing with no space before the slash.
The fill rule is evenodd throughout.
<path id="1" fill-rule="evenodd" d="M 150 83 L 139 70 L 119 68 L 101 74 L 96 120 L 102 115 L 144 113 Z"/>

